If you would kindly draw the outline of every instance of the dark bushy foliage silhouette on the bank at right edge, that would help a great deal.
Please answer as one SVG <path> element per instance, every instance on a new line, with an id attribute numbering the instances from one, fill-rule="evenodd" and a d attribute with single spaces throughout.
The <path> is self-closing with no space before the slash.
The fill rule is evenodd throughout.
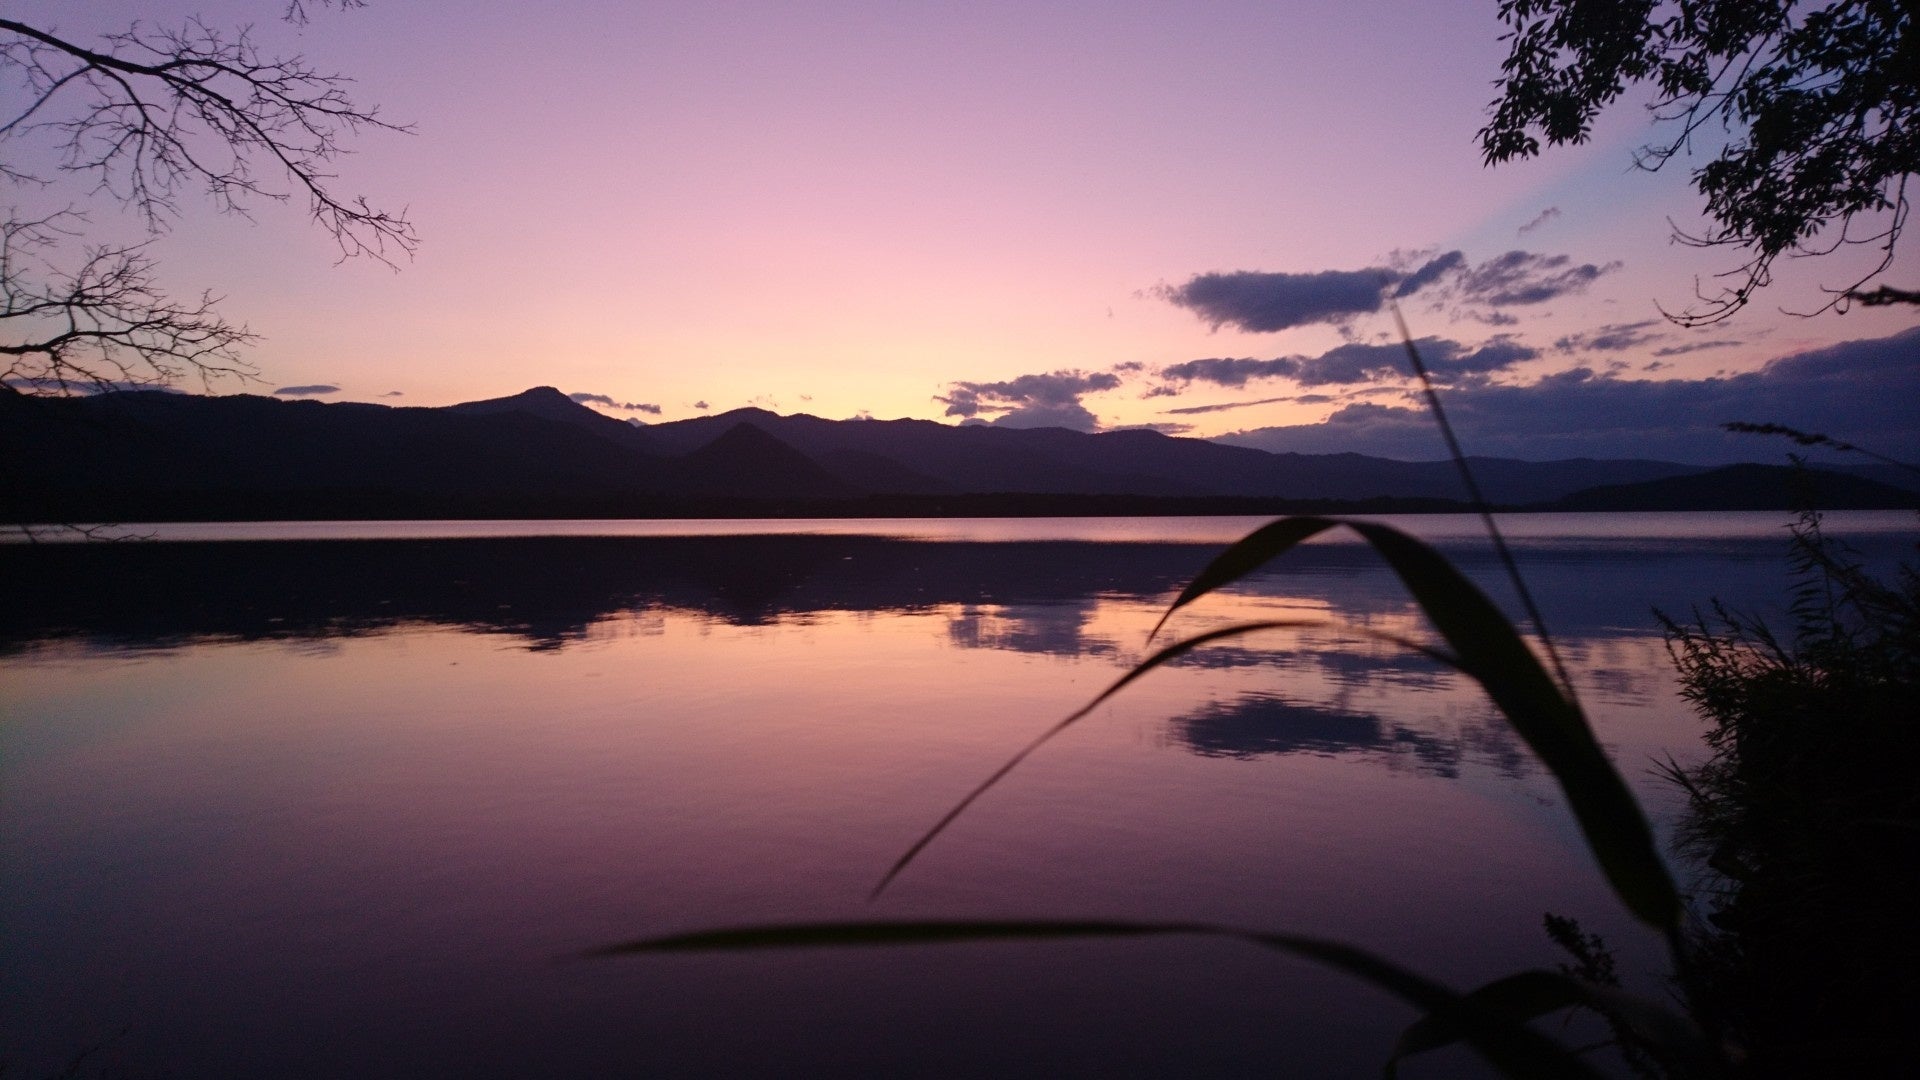
<path id="1" fill-rule="evenodd" d="M 1880 1074 L 1920 1005 L 1920 573 L 1876 578 L 1812 511 L 1789 569 L 1784 636 L 1720 603 L 1663 617 L 1713 751 L 1667 767 L 1682 851 L 1713 872 L 1684 990 L 1749 1074 Z"/>

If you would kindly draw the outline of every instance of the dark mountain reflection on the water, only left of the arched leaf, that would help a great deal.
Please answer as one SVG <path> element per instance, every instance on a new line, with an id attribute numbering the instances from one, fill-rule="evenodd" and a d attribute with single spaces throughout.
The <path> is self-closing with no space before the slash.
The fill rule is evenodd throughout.
<path id="1" fill-rule="evenodd" d="M 1069 625 L 1089 598 L 1158 598 L 1212 552 L 1200 544 L 874 536 L 10 548 L 0 650 L 75 638 L 152 650 L 405 625 L 511 634 L 551 650 L 584 640 L 595 623 L 647 609 L 755 626 L 824 611 L 991 605 L 998 615 L 983 626 L 985 640 L 1046 642 L 1043 651 L 1073 655 Z"/>

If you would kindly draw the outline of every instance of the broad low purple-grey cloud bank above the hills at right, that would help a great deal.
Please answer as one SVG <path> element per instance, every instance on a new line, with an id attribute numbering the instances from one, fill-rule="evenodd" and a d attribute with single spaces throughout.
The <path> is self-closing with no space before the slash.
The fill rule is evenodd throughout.
<path id="1" fill-rule="evenodd" d="M 1786 356 L 1741 375 L 1653 380 L 1578 367 L 1526 386 L 1469 384 L 1446 394 L 1448 419 L 1469 454 L 1701 465 L 1780 459 L 1782 446 L 1728 434 L 1718 427 L 1726 421 L 1780 423 L 1920 459 L 1912 402 L 1920 402 L 1920 329 Z M 1446 454 L 1425 409 L 1365 402 L 1323 423 L 1235 432 L 1221 442 L 1400 459 Z"/>

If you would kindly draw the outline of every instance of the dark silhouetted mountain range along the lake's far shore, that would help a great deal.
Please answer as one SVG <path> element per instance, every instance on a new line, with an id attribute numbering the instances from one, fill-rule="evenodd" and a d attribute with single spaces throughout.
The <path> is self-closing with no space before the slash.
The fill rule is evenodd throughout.
<path id="1" fill-rule="evenodd" d="M 447 407 L 0 392 L 0 461 L 10 521 L 1277 513 L 1450 509 L 1465 498 L 1450 461 L 764 409 L 636 427 L 551 386 Z M 1789 498 L 1786 471 L 1761 467 L 1482 457 L 1473 469 L 1505 505 L 1693 509 Z M 1832 505 L 1920 502 L 1853 480 L 1828 486 Z"/>

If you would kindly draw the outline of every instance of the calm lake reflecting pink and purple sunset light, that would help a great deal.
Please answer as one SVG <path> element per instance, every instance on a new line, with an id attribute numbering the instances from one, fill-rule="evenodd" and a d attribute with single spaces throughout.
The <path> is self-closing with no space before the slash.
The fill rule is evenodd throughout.
<path id="1" fill-rule="evenodd" d="M 1509 603 L 1476 523 L 1409 517 Z M 1576 917 L 1659 994 L 1559 792 L 1352 540 L 1146 655 L 1250 519 L 267 523 L 0 546 L 8 1076 L 1375 1076 L 1413 1013 L 1236 942 L 584 959 L 820 919 L 1194 920 L 1467 988 Z M 1701 755 L 1659 625 L 1778 613 L 1786 519 L 1505 519 L 1601 736 Z M 1914 517 L 1836 513 L 1884 565 Z M 84 1057 L 83 1057 L 84 1055 Z M 1407 1076 L 1480 1074 L 1463 1053 Z"/>

